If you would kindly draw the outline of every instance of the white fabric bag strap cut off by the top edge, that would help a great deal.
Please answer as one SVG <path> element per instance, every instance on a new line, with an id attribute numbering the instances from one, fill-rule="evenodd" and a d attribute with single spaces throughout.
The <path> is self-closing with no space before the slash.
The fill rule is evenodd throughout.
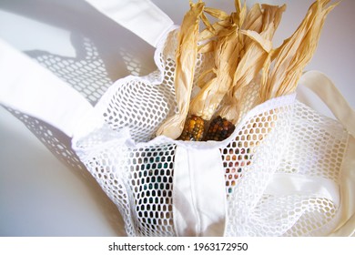
<path id="1" fill-rule="evenodd" d="M 174 22 L 150 0 L 86 0 L 86 2 L 154 47 L 157 47 L 161 37 L 174 25 Z"/>

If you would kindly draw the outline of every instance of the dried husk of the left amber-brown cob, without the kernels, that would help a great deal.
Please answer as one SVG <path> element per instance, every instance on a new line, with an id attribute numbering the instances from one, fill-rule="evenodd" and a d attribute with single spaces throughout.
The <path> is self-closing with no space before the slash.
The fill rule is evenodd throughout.
<path id="1" fill-rule="evenodd" d="M 236 5 L 240 10 L 237 13 L 233 13 L 230 16 L 222 11 L 216 9 L 207 9 L 208 14 L 214 17 L 222 19 L 220 26 L 208 26 L 213 29 L 218 28 L 212 32 L 217 32 L 217 42 L 212 41 L 214 48 L 215 66 L 208 72 L 214 73 L 214 76 L 205 85 L 199 85 L 201 90 L 198 95 L 193 98 L 190 104 L 190 114 L 198 117 L 202 117 L 205 120 L 215 114 L 221 100 L 225 97 L 226 93 L 233 85 L 232 75 L 234 74 L 239 59 L 239 26 L 243 23 L 246 14 L 246 5 L 240 6 L 240 2 L 236 1 Z M 227 26 L 226 20 L 229 24 Z M 214 34 L 208 28 L 208 32 L 204 34 L 203 38 L 212 38 Z"/>

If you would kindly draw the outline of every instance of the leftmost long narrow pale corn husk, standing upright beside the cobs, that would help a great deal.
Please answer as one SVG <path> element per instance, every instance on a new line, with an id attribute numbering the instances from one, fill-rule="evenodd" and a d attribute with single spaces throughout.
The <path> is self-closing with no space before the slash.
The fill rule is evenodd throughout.
<path id="1" fill-rule="evenodd" d="M 157 130 L 157 136 L 164 135 L 169 138 L 178 138 L 184 128 L 188 115 L 188 106 L 191 96 L 192 84 L 195 75 L 196 59 L 198 55 L 198 28 L 205 4 L 190 1 L 190 10 L 184 16 L 178 34 L 175 71 L 175 95 L 178 112 L 168 117 Z"/>

